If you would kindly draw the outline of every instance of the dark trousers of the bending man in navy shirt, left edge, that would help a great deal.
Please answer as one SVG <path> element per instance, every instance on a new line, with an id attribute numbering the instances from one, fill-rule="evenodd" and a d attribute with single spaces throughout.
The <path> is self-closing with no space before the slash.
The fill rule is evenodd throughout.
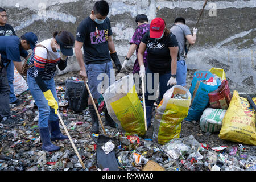
<path id="1" fill-rule="evenodd" d="M 10 87 L 8 84 L 8 78 L 6 74 L 6 68 L 3 67 L 2 73 L 0 73 L 0 119 L 3 117 L 9 117 L 11 115 L 10 110 Z M 1 120 L 0 120 L 1 121 Z"/>

